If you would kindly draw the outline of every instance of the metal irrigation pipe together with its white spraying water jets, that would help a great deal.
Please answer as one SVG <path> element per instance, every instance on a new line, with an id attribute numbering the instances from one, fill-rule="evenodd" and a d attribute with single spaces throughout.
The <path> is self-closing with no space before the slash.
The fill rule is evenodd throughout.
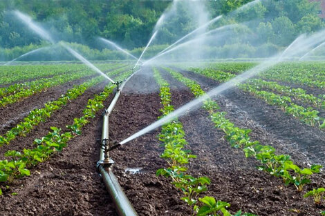
<path id="1" fill-rule="evenodd" d="M 256 0 L 256 1 L 253 1 L 252 3 L 256 3 L 258 1 L 259 0 Z M 252 3 L 250 3 L 250 5 L 252 5 Z M 26 23 L 26 25 L 28 25 L 28 27 L 31 30 L 37 32 L 40 37 L 42 37 L 43 39 L 46 39 L 47 41 L 50 41 L 50 43 L 55 44 L 55 41 L 52 39 L 52 37 L 50 37 L 48 32 L 46 32 L 44 29 L 42 29 L 41 26 L 37 25 L 37 23 L 34 23 L 32 21 L 32 19 L 30 19 L 30 17 L 28 17 L 25 14 L 22 14 L 19 11 L 15 11 L 15 14 L 16 14 L 17 17 L 19 17 L 19 19 L 21 19 L 21 21 Z M 164 19 L 164 15 L 162 15 L 162 17 L 160 17 L 159 21 L 162 21 L 163 19 Z M 152 59 L 149 59 L 149 61 L 152 61 L 153 59 L 156 59 L 156 58 L 160 57 L 161 55 L 165 55 L 168 52 L 171 52 L 172 50 L 178 48 L 178 46 L 184 46 L 184 43 L 182 43 L 182 44 L 178 44 L 178 43 L 180 43 L 180 41 L 183 41 L 184 39 L 186 39 L 190 35 L 193 35 L 195 32 L 197 32 L 201 28 L 209 26 L 211 23 L 214 23 L 215 21 L 217 21 L 219 19 L 221 19 L 221 16 L 212 19 L 208 23 L 205 23 L 204 26 L 201 26 L 201 27 L 197 28 L 196 30 L 190 32 L 188 35 L 185 35 L 185 37 L 179 39 L 178 41 L 173 43 L 171 46 L 169 46 L 165 50 L 158 53 L 158 55 L 156 55 L 156 57 L 153 57 Z M 223 27 L 223 28 L 225 28 L 225 27 Z M 216 29 L 216 30 L 220 30 L 220 28 Z M 212 30 L 212 31 L 215 31 L 215 30 Z M 151 42 L 156 37 L 157 33 L 158 33 L 158 30 L 156 30 L 154 32 L 154 34 L 151 36 L 151 39 L 147 43 L 147 46 L 145 47 L 145 49 L 143 50 L 143 52 L 142 52 L 142 54 L 140 55 L 139 58 L 136 58 L 133 55 L 129 54 L 129 52 L 127 52 L 125 50 L 122 50 L 122 48 L 120 48 L 115 43 L 113 43 L 113 42 L 111 42 L 109 40 L 102 39 L 102 41 L 104 41 L 106 43 L 109 43 L 112 46 L 115 46 L 115 48 L 117 48 L 121 52 L 124 52 L 124 54 L 131 56 L 133 59 L 137 59 L 137 62 L 135 64 L 134 68 L 133 68 L 133 70 L 135 70 L 135 68 L 138 66 L 138 63 L 141 61 L 142 56 L 145 54 L 147 48 L 150 46 Z M 205 34 L 207 34 L 207 33 L 205 33 Z M 78 52 L 73 50 L 70 46 L 66 45 L 66 43 L 59 43 L 60 46 L 66 48 L 66 50 L 68 52 L 70 52 L 73 56 L 75 56 L 77 59 L 80 59 L 80 61 L 85 63 L 86 66 L 89 66 L 89 68 L 91 68 L 92 70 L 95 70 L 100 75 L 102 75 L 103 77 L 105 77 L 106 79 L 111 81 L 111 83 L 113 83 L 113 84 L 115 84 L 117 86 L 116 91 L 115 91 L 115 96 L 113 97 L 113 100 L 111 101 L 111 104 L 104 111 L 104 114 L 102 116 L 102 118 L 103 118 L 102 137 L 101 137 L 101 140 L 100 140 L 101 148 L 100 148 L 100 158 L 97 161 L 97 171 L 102 176 L 102 179 L 104 181 L 106 189 L 109 191 L 109 193 L 110 193 L 110 195 L 111 195 L 111 197 L 113 199 L 113 202 L 114 202 L 114 204 L 116 206 L 116 209 L 118 210 L 118 214 L 120 216 L 138 215 L 136 213 L 136 210 L 134 210 L 133 206 L 129 202 L 129 199 L 124 194 L 120 184 L 118 183 L 118 179 L 116 179 L 115 175 L 113 174 L 114 161 L 110 156 L 110 151 L 111 150 L 113 150 L 115 148 L 118 148 L 119 146 L 122 146 L 124 144 L 127 144 L 129 141 L 131 141 L 133 139 L 136 139 L 136 137 L 144 135 L 145 133 L 147 133 L 147 132 L 149 132 L 151 130 L 154 130 L 155 128 L 158 128 L 159 126 L 162 126 L 163 124 L 166 124 L 168 121 L 170 121 L 171 119 L 174 119 L 175 117 L 179 117 L 180 115 L 184 115 L 185 110 L 193 110 L 194 108 L 196 108 L 200 104 L 202 104 L 202 102 L 205 101 L 206 99 L 208 99 L 209 97 L 214 97 L 216 95 L 219 95 L 221 92 L 223 92 L 223 91 L 225 91 L 225 90 L 227 90 L 229 88 L 232 88 L 232 87 L 236 86 L 237 84 L 245 81 L 246 79 L 249 79 L 250 77 L 253 77 L 254 75 L 257 75 L 257 73 L 259 73 L 259 72 L 261 72 L 263 70 L 266 70 L 267 68 L 270 68 L 271 66 L 274 66 L 275 64 L 283 61 L 283 59 L 285 59 L 285 57 L 288 57 L 288 56 L 290 57 L 291 56 L 290 55 L 291 52 L 295 52 L 295 51 L 291 51 L 291 50 L 294 50 L 293 48 L 295 48 L 295 46 L 296 47 L 299 46 L 299 48 L 301 48 L 301 50 L 303 50 L 306 53 L 307 49 L 310 49 L 310 47 L 313 47 L 313 46 L 317 45 L 316 42 L 319 42 L 319 41 L 323 42 L 320 39 L 323 34 L 324 34 L 324 32 L 319 32 L 319 34 L 315 35 L 315 37 L 309 37 L 308 39 L 306 37 L 297 38 L 290 46 L 288 46 L 288 48 L 286 50 L 284 50 L 284 52 L 282 52 L 281 55 L 279 55 L 279 57 L 276 57 L 274 59 L 270 59 L 269 61 L 263 62 L 259 66 L 253 68 L 252 70 L 248 70 L 248 71 L 244 72 L 243 74 L 235 77 L 234 79 L 226 82 L 225 84 L 222 84 L 222 85 L 214 88 L 213 90 L 208 92 L 207 95 L 204 95 L 203 97 L 195 99 L 195 100 L 189 102 L 189 104 L 185 104 L 185 106 L 182 106 L 182 107 L 178 108 L 177 110 L 175 110 L 174 112 L 171 112 L 166 117 L 154 122 L 150 126 L 147 126 L 147 128 L 144 128 L 144 129 L 140 130 L 136 134 L 132 135 L 131 137 L 128 137 L 127 139 L 124 139 L 121 142 L 113 142 L 113 141 L 109 140 L 109 117 L 110 117 L 113 109 L 115 108 L 115 105 L 117 104 L 118 99 L 120 98 L 120 95 L 122 94 L 122 90 L 123 90 L 124 86 L 127 84 L 129 79 L 131 79 L 131 77 L 133 77 L 133 75 L 135 75 L 141 69 L 133 71 L 132 75 L 130 77 L 128 77 L 127 79 L 125 79 L 124 81 L 113 81 L 113 79 L 111 79 L 110 77 L 107 77 L 107 75 L 105 75 L 102 71 L 100 71 L 98 68 L 93 66 L 92 63 L 90 63 L 88 60 L 86 60 L 84 57 L 82 57 L 82 55 L 80 55 Z M 191 41 L 187 41 L 187 42 L 185 42 L 185 44 L 190 43 L 190 42 Z M 324 45 L 324 43 L 321 43 L 321 45 L 319 45 L 319 46 Z M 178 46 L 176 46 L 177 44 L 178 44 Z M 173 48 L 173 46 L 175 46 L 175 47 Z M 317 49 L 319 46 L 314 48 L 314 50 Z M 43 49 L 43 48 L 40 48 L 40 49 Z M 30 53 L 36 52 L 36 51 L 37 50 L 34 50 L 34 51 L 31 51 Z M 308 55 L 308 53 L 306 55 Z M 26 55 L 28 55 L 28 53 L 26 53 Z M 306 55 L 301 57 L 301 59 L 304 58 Z M 15 59 L 13 61 L 15 61 Z"/>

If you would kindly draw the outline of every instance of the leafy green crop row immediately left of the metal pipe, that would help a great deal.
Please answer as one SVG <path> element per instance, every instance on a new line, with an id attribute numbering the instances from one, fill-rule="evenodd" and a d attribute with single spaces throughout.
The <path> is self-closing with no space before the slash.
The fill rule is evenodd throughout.
<path id="1" fill-rule="evenodd" d="M 117 79 L 128 77 L 131 72 L 125 72 Z M 100 94 L 89 99 L 83 116 L 73 119 L 73 124 L 66 126 L 68 132 L 62 132 L 61 128 L 51 127 L 50 132 L 41 139 L 35 139 L 36 148 L 24 149 L 22 152 L 9 150 L 5 156 L 8 159 L 0 161 L 0 181 L 10 184 L 13 179 L 30 175 L 29 168 L 46 161 L 53 153 L 62 151 L 68 145 L 68 141 L 81 134 L 82 128 L 95 118 L 97 111 L 104 108 L 104 101 L 109 97 L 115 86 L 109 84 Z M 1 190 L 0 190 L 0 193 Z"/>

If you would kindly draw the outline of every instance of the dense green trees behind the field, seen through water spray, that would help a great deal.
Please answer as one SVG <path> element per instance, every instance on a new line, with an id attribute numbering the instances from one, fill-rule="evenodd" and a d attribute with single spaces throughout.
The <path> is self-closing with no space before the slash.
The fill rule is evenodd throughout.
<path id="1" fill-rule="evenodd" d="M 251 0 L 215 0 L 205 1 L 210 18 L 219 14 L 229 14 L 236 8 Z M 89 57 L 101 59 L 104 56 L 123 56 L 110 50 L 102 50 L 95 37 L 104 37 L 117 42 L 124 48 L 132 50 L 133 54 L 141 52 L 152 34 L 156 21 L 171 5 L 172 1 L 142 1 L 142 0 L 2 0 L 0 1 L 0 59 L 10 60 L 29 50 L 44 46 L 44 41 L 28 28 L 14 19 L 10 10 L 21 10 L 30 14 L 33 19 L 44 23 L 44 26 L 59 41 L 69 41 L 73 46 L 88 53 Z M 224 44 L 225 52 L 233 48 L 244 50 L 239 57 L 260 57 L 276 52 L 303 32 L 310 33 L 325 26 L 318 14 L 321 11 L 318 2 L 308 0 L 272 0 L 262 1 L 249 10 L 228 16 L 220 23 L 242 23 L 255 21 L 246 31 L 254 32 L 251 41 L 230 41 Z M 181 8 L 180 8 L 181 10 Z M 160 30 L 156 47 L 159 50 L 168 43 L 179 39 L 190 30 L 194 30 L 195 16 L 178 13 L 176 17 L 167 20 Z M 178 23 L 176 25 L 176 23 Z M 254 26 L 254 27 L 252 27 Z M 216 26 L 214 26 L 216 27 Z M 241 32 L 238 32 L 241 34 Z M 259 44 L 250 44 L 251 42 Z M 86 46 L 78 45 L 77 43 Z M 157 46 L 161 44 L 161 46 Z M 219 48 L 221 49 L 221 48 Z M 151 50 L 152 51 L 152 50 Z M 216 50 L 207 50 L 214 53 Z M 154 51 L 152 51 L 154 52 Z"/>

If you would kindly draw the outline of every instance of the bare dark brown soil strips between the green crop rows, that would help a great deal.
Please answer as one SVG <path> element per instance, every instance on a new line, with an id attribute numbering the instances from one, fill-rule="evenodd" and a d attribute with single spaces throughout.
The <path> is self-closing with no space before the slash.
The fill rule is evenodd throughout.
<path id="1" fill-rule="evenodd" d="M 122 141 L 160 116 L 159 89 L 151 74 L 151 69 L 143 68 L 127 84 L 109 119 L 111 139 Z M 200 81 L 206 90 L 216 86 L 210 79 L 191 76 Z M 194 98 L 185 86 L 171 79 L 167 72 L 163 72 L 163 77 L 171 84 L 172 105 L 175 108 Z M 180 86 L 180 90 L 176 86 Z M 93 89 L 92 94 L 95 92 L 97 90 Z M 91 92 L 87 94 L 91 97 Z M 106 101 L 106 107 L 110 100 Z M 69 124 L 73 117 L 80 116 L 84 101 L 86 99 L 80 99 L 48 122 L 60 127 Z M 252 128 L 252 139 L 274 145 L 280 153 L 290 153 L 298 164 L 324 160 L 321 157 L 324 154 L 324 151 L 321 153 L 324 133 L 317 128 L 301 124 L 277 108 L 238 90 L 220 97 L 219 104 L 236 125 Z M 187 148 L 198 155 L 189 164 L 189 173 L 210 177 L 212 184 L 205 195 L 229 202 L 232 213 L 242 209 L 258 215 L 319 215 L 320 210 L 325 210 L 315 208 L 312 200 L 303 199 L 293 186 L 286 187 L 280 179 L 257 170 L 255 159 L 246 159 L 240 150 L 230 148 L 223 139 L 223 132 L 214 128 L 205 110 L 191 112 L 180 117 L 180 121 L 189 143 Z M 100 151 L 95 140 L 100 139 L 101 124 L 99 113 L 84 128 L 82 135 L 71 141 L 62 153 L 32 168 L 30 177 L 18 179 L 9 189 L 4 189 L 4 195 L 0 197 L 0 215 L 116 215 L 95 170 Z M 295 129 L 296 126 L 300 128 Z M 289 131 L 281 131 L 284 127 Z M 301 139 L 296 137 L 297 130 L 300 130 Z M 157 139 L 159 131 L 151 131 L 113 150 L 113 172 L 139 215 L 191 215 L 189 207 L 180 201 L 181 193 L 168 179 L 155 175 L 158 168 L 167 166 L 159 157 L 163 152 Z M 31 135 L 28 139 L 39 138 L 39 135 L 39 132 L 35 132 L 34 137 Z M 319 152 L 306 147 L 307 144 L 312 145 L 312 141 L 321 141 Z M 295 146 L 292 145 L 294 142 L 297 143 Z M 30 146 L 30 141 L 25 145 Z M 310 151 L 305 155 L 306 150 Z M 132 174 L 126 171 L 127 168 L 140 168 L 140 172 Z M 313 184 L 305 191 L 324 186 L 324 177 L 324 174 L 315 175 Z"/>

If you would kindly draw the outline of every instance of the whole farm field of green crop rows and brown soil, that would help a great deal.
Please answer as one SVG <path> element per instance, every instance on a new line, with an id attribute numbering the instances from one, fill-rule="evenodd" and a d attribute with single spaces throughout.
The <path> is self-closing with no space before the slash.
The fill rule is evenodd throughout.
<path id="1" fill-rule="evenodd" d="M 95 65 L 116 81 L 133 72 L 127 62 Z M 142 66 L 111 113 L 111 141 L 256 65 Z M 203 209 L 214 197 L 226 202 L 223 215 L 321 215 L 324 201 L 316 206 L 304 195 L 325 186 L 324 67 L 280 63 L 112 150 L 114 173 L 136 212 L 192 215 L 192 199 Z M 115 85 L 80 64 L 2 69 L 0 214 L 117 215 L 96 171 L 102 112 Z M 191 195 L 185 177 L 196 182 Z"/>

